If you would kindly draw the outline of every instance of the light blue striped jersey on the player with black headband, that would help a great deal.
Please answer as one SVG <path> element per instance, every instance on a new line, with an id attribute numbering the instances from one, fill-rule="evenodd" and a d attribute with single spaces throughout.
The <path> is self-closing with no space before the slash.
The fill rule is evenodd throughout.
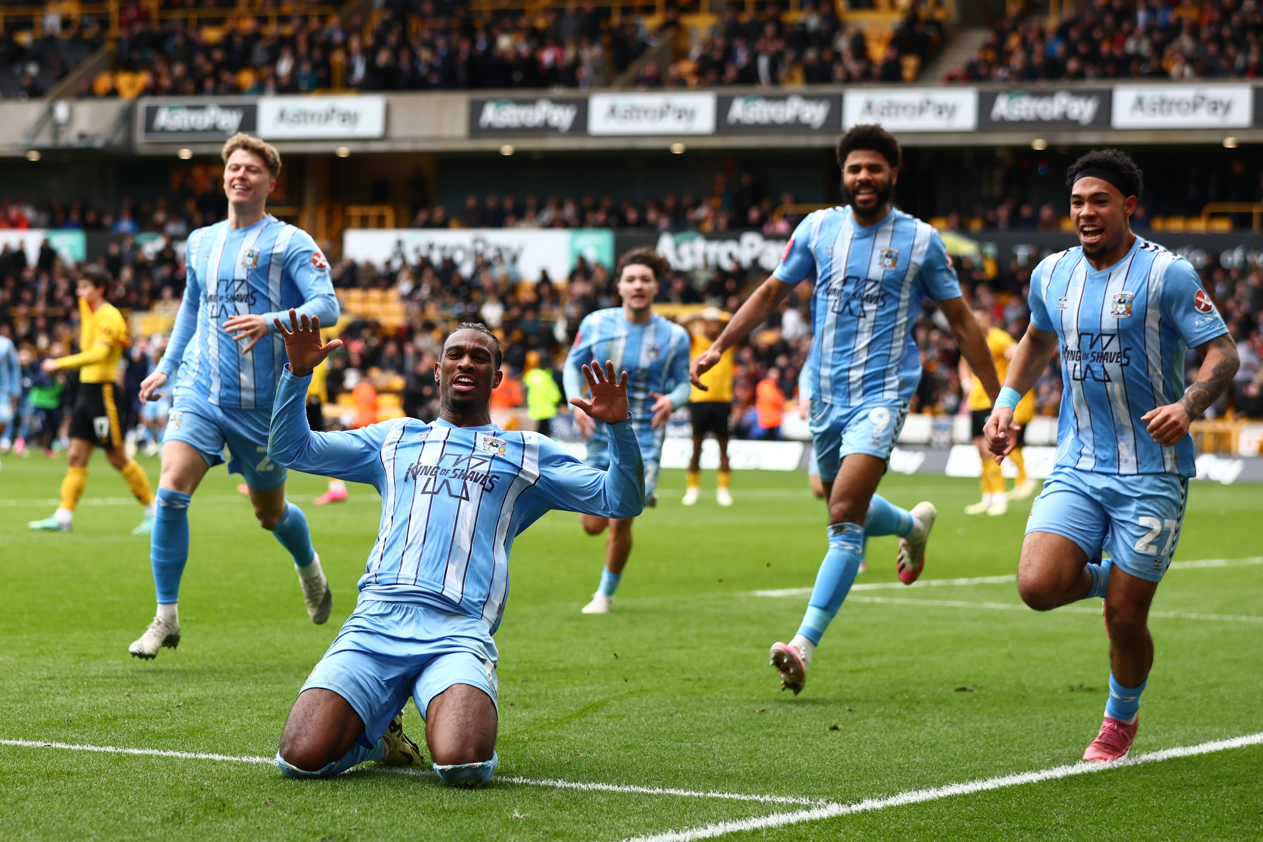
<path id="1" fill-rule="evenodd" d="M 1186 349 L 1228 333 L 1187 260 L 1140 238 L 1101 271 L 1081 247 L 1051 254 L 1031 276 L 1031 325 L 1060 340 L 1057 465 L 1197 474 L 1192 436 L 1163 448 L 1140 420 L 1183 394 Z"/>

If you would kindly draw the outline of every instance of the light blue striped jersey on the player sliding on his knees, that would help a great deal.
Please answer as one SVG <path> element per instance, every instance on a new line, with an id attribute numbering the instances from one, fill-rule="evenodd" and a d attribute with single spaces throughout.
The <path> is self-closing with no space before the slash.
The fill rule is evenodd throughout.
<path id="1" fill-rule="evenodd" d="M 381 494 L 365 599 L 408 602 L 500 623 L 513 539 L 560 508 L 635 517 L 644 465 L 630 424 L 611 431 L 610 469 L 582 464 L 538 432 L 397 418 L 349 432 L 307 426 L 311 377 L 282 369 L 268 455 L 285 468 L 369 483 Z"/>

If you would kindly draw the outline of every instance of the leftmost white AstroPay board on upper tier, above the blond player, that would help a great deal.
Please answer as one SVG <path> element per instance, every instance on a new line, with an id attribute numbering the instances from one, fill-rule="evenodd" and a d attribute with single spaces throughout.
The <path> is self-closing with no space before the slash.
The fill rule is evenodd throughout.
<path id="1" fill-rule="evenodd" d="M 385 133 L 384 96 L 259 97 L 259 137 L 269 140 L 370 139 Z"/>

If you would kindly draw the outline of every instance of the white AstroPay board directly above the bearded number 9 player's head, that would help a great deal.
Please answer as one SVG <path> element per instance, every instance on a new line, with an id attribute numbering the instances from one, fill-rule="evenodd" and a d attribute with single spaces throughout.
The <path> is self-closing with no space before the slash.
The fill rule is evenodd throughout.
<path id="1" fill-rule="evenodd" d="M 880 123 L 890 131 L 973 131 L 978 91 L 952 87 L 879 87 L 847 91 L 842 128 Z"/>

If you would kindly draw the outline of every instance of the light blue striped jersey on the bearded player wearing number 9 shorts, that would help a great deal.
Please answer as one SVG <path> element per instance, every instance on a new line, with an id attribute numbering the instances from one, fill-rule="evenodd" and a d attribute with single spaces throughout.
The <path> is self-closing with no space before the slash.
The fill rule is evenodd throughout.
<path id="1" fill-rule="evenodd" d="M 849 206 L 808 214 L 773 277 L 815 284 L 811 393 L 839 406 L 908 401 L 921 382 L 912 326 L 922 300 L 960 297 L 938 233 L 895 209 L 870 226 L 856 225 Z"/>

